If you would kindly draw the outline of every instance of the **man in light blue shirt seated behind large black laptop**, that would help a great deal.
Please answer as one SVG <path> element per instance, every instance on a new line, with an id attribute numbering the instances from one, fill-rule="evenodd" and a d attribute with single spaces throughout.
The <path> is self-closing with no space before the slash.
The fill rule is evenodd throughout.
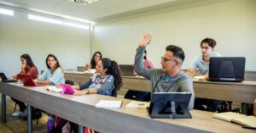
<path id="1" fill-rule="evenodd" d="M 211 57 L 221 57 L 219 53 L 214 51 L 216 42 L 212 38 L 205 38 L 201 41 L 201 55 L 195 58 L 192 67 L 186 72 L 189 76 L 195 75 L 195 69 L 199 69 L 201 75 L 208 78 L 209 73 L 209 62 Z M 222 101 L 212 100 L 206 98 L 195 98 L 194 109 L 207 110 L 215 112 L 218 110 L 218 105 Z M 207 108 L 203 106 L 207 105 Z"/>

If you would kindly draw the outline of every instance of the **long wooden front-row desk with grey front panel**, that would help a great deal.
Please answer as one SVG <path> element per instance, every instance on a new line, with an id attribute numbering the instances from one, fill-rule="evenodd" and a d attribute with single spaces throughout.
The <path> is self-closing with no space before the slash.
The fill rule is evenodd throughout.
<path id="1" fill-rule="evenodd" d="M 0 92 L 3 95 L 104 133 L 254 132 L 242 129 L 241 125 L 213 119 L 213 113 L 209 112 L 192 110 L 193 119 L 150 119 L 145 108 L 125 108 L 131 100 L 96 94 L 61 95 L 46 91 L 46 88 L 47 86 L 23 87 L 0 82 Z M 100 99 L 122 100 L 123 106 L 118 109 L 95 108 Z"/>

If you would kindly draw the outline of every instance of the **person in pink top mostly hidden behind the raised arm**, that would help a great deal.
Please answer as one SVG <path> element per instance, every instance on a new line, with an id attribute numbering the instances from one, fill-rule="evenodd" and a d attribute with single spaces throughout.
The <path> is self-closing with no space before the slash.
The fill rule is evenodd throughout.
<path id="1" fill-rule="evenodd" d="M 147 69 L 154 69 L 154 64 L 148 60 L 147 58 L 147 51 L 144 51 L 143 55 L 143 66 Z M 134 75 L 137 75 L 137 73 L 134 71 Z M 125 99 L 135 99 L 137 101 L 150 101 L 151 94 L 148 91 L 134 91 L 129 90 L 125 94 Z"/>

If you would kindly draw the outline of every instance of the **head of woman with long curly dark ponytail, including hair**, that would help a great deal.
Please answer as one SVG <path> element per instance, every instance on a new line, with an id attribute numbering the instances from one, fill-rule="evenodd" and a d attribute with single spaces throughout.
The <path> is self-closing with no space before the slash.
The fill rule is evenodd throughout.
<path id="1" fill-rule="evenodd" d="M 114 60 L 102 58 L 96 66 L 96 71 L 101 75 L 113 75 L 116 90 L 119 90 L 123 86 L 119 65 Z"/>

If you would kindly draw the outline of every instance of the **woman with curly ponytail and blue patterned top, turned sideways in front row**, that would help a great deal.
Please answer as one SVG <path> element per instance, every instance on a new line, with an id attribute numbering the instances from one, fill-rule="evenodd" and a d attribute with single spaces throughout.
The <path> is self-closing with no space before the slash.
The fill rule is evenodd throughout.
<path id="1" fill-rule="evenodd" d="M 79 86 L 73 86 L 74 95 L 102 94 L 113 96 L 113 93 L 121 88 L 122 76 L 120 75 L 119 65 L 109 58 L 102 58 L 96 66 L 97 74 L 93 75 Z"/>

